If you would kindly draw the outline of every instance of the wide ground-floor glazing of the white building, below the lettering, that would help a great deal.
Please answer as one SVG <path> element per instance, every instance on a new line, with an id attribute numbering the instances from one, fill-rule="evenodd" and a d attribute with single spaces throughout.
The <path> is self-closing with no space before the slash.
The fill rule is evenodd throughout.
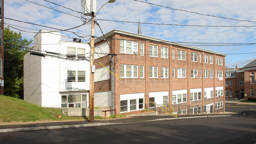
<path id="1" fill-rule="evenodd" d="M 62 108 L 88 108 L 88 94 L 61 95 Z"/>

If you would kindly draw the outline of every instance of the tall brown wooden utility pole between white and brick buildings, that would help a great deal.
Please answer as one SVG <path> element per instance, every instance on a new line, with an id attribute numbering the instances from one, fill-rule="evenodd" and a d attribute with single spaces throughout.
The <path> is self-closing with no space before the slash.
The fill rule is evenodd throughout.
<path id="1" fill-rule="evenodd" d="M 92 12 L 91 17 L 91 51 L 90 51 L 90 92 L 89 92 L 89 122 L 94 122 L 94 36 L 95 35 L 95 13 Z"/>

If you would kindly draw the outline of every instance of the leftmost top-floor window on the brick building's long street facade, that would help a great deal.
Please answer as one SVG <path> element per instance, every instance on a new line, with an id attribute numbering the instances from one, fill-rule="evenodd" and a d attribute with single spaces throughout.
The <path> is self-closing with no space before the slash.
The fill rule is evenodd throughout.
<path id="1" fill-rule="evenodd" d="M 120 40 L 120 52 L 126 54 L 138 54 L 138 43 Z"/>

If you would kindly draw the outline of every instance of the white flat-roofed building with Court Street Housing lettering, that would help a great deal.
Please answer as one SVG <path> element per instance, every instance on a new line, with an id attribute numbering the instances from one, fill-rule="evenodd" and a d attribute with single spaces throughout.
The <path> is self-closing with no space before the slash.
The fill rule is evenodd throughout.
<path id="1" fill-rule="evenodd" d="M 43 107 L 88 108 L 90 62 L 83 59 L 89 59 L 90 46 L 61 41 L 60 32 L 47 30 L 37 33 L 34 43 L 31 52 L 46 56 L 25 54 L 24 100 Z"/>

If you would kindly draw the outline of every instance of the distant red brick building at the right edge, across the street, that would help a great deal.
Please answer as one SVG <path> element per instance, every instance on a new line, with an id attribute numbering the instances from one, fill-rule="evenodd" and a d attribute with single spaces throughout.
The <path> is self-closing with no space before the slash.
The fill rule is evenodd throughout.
<path id="1" fill-rule="evenodd" d="M 235 70 L 226 70 L 225 96 L 229 98 L 256 97 L 256 59 L 245 65 L 243 68 L 236 67 Z"/>

